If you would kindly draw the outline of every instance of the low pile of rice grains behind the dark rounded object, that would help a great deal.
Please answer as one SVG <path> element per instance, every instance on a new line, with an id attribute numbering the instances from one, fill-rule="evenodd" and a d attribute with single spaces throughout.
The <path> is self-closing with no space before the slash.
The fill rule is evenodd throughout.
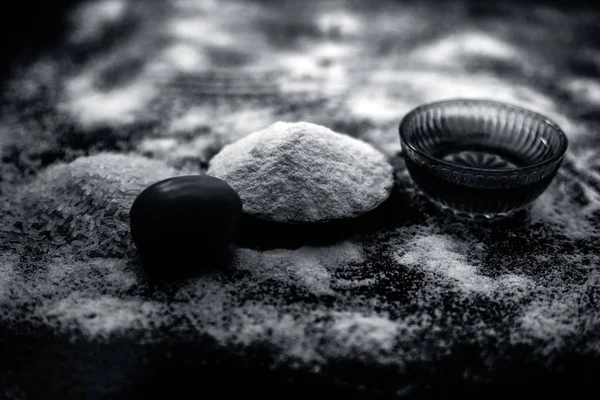
<path id="1" fill-rule="evenodd" d="M 132 249 L 129 209 L 148 185 L 177 171 L 138 155 L 102 153 L 56 164 L 5 204 L 6 239 L 42 252 L 101 257 Z"/>

